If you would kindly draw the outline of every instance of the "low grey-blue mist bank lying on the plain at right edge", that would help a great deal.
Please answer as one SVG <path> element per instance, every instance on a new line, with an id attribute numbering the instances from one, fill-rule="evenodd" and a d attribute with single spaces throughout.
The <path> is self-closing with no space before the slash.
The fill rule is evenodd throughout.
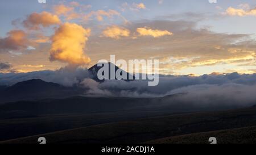
<path id="1" fill-rule="evenodd" d="M 253 92 L 256 85 L 224 83 L 223 85 L 192 85 L 170 91 L 170 94 L 185 93 L 177 98 L 180 102 L 197 106 L 252 106 L 256 102 Z"/>

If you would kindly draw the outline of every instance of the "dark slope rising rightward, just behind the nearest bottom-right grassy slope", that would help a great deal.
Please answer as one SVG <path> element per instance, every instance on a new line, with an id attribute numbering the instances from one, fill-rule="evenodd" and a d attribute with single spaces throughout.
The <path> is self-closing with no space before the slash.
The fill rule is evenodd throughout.
<path id="1" fill-rule="evenodd" d="M 48 143 L 143 143 L 163 137 L 253 125 L 256 125 L 256 107 L 100 124 L 25 137 L 4 143 L 36 143 L 39 136 L 46 137 Z M 249 133 L 249 131 L 244 130 L 245 133 Z"/>

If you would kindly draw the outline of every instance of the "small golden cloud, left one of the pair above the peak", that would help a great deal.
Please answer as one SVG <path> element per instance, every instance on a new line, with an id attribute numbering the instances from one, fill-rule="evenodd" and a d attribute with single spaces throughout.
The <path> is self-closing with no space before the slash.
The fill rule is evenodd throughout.
<path id="1" fill-rule="evenodd" d="M 105 37 L 119 39 L 119 37 L 130 36 L 130 31 L 123 27 L 111 26 L 106 28 L 106 30 L 102 32 L 102 35 Z"/>

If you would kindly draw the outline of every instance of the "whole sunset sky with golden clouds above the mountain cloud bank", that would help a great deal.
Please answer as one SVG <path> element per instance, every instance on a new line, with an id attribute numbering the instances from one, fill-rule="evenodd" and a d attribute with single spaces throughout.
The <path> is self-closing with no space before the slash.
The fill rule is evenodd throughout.
<path id="1" fill-rule="evenodd" d="M 161 74 L 256 72 L 256 0 L 0 1 L 0 72 L 158 59 Z"/>

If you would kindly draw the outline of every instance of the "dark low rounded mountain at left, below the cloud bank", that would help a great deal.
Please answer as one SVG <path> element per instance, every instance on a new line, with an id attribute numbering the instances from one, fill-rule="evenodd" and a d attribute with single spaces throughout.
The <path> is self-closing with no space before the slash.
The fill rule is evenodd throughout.
<path id="1" fill-rule="evenodd" d="M 42 79 L 18 82 L 0 90 L 0 103 L 44 98 L 67 98 L 81 93 L 79 87 L 64 87 Z"/>

